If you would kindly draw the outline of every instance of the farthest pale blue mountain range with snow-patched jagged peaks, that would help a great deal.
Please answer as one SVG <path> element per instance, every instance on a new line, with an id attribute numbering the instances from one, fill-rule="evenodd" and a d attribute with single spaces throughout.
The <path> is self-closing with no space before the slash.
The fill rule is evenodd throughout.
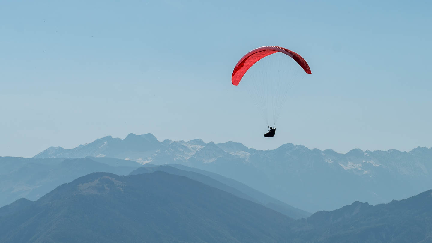
<path id="1" fill-rule="evenodd" d="M 333 210 L 353 201 L 403 199 L 432 188 L 432 149 L 346 154 L 284 144 L 255 150 L 241 143 L 158 141 L 152 134 L 103 137 L 73 149 L 50 147 L 35 158 L 115 157 L 140 163 L 177 163 L 242 182 L 295 208 Z"/>

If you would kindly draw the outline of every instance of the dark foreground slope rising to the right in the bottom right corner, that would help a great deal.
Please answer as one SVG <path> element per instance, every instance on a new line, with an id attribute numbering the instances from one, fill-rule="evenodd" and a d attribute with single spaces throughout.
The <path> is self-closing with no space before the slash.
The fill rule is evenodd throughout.
<path id="1" fill-rule="evenodd" d="M 432 190 L 376 206 L 354 202 L 297 221 L 293 242 L 432 242 Z"/>

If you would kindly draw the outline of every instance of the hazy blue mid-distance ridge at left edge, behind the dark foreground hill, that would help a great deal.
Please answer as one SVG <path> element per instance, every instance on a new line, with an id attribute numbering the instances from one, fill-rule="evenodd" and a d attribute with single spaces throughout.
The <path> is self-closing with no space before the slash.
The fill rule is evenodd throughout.
<path id="1" fill-rule="evenodd" d="M 57 186 L 92 172 L 127 175 L 139 166 L 135 161 L 114 158 L 0 157 L 0 207 L 22 197 L 36 200 Z"/>

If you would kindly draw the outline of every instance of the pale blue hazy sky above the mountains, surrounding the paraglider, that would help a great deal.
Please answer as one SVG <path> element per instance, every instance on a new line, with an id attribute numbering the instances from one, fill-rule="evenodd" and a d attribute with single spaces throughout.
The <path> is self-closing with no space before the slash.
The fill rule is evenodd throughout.
<path id="1" fill-rule="evenodd" d="M 2 1 L 0 156 L 152 133 L 273 149 L 432 146 L 431 1 Z M 263 45 L 301 54 L 267 130 L 232 86 Z"/>

